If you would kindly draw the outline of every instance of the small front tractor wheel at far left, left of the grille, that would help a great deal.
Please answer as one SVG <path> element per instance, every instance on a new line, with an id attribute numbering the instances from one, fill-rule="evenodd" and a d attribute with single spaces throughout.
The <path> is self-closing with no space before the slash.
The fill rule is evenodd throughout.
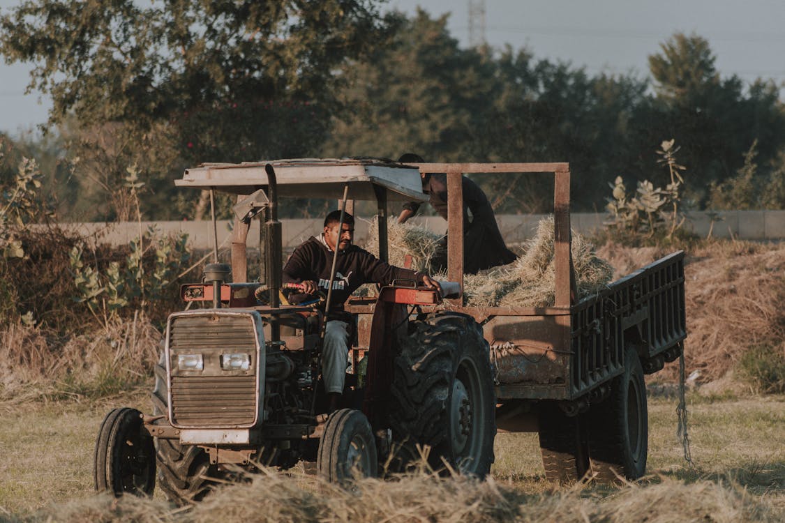
<path id="1" fill-rule="evenodd" d="M 155 451 L 142 431 L 141 412 L 114 409 L 98 430 L 93 459 L 96 492 L 149 496 L 155 489 Z"/>

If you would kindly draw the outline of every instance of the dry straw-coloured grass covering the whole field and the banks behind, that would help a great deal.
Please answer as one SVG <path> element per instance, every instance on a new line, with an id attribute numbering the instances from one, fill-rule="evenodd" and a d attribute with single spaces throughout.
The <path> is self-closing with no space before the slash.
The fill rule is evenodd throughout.
<path id="1" fill-rule="evenodd" d="M 598 252 L 615 278 L 664 253 L 616 245 Z M 783 245 L 690 249 L 692 466 L 677 439 L 677 400 L 668 395 L 677 365 L 670 364 L 650 383 L 648 474 L 621 487 L 559 488 L 544 478 L 536 434 L 498 434 L 496 463 L 482 483 L 422 473 L 361 481 L 347 492 L 294 470 L 256 474 L 189 510 L 159 493 L 95 496 L 93 445 L 104 415 L 119 406 L 150 410 L 147 390 L 112 391 L 147 381 L 159 332 L 137 321 L 74 340 L 7 329 L 0 332 L 0 521 L 785 521 L 783 274 Z M 756 350 L 768 359 L 747 358 Z M 757 381 L 741 379 L 745 365 Z M 81 381 L 65 380 L 61 369 Z M 765 391 L 776 394 L 752 394 Z"/>

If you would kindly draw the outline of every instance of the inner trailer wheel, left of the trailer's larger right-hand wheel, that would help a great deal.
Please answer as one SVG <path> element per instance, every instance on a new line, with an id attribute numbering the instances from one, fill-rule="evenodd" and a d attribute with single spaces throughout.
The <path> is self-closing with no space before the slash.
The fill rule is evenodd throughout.
<path id="1" fill-rule="evenodd" d="M 538 421 L 546 479 L 561 484 L 580 481 L 589 470 L 584 416 L 567 416 L 558 405 L 549 402 L 540 405 Z"/>

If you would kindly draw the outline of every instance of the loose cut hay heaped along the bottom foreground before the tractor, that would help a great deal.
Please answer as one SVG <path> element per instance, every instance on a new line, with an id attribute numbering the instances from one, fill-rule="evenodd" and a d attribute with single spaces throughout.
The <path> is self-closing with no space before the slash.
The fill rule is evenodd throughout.
<path id="1" fill-rule="evenodd" d="M 725 482 L 630 485 L 612 492 L 564 488 L 526 494 L 489 480 L 412 475 L 400 481 L 364 479 L 351 490 L 315 477 L 259 474 L 243 485 L 222 489 L 191 510 L 152 499 L 96 496 L 53 506 L 34 521 L 782 521 L 768 499 Z M 10 518 L 9 521 L 22 521 Z"/>

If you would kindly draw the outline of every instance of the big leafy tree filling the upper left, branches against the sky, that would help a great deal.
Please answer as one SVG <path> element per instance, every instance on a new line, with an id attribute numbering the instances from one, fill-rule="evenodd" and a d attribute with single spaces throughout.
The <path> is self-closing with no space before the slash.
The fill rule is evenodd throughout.
<path id="1" fill-rule="evenodd" d="M 336 69 L 385 20 L 370 0 L 27 0 L 0 27 L 5 60 L 35 64 L 29 89 L 52 96 L 50 123 L 71 118 L 73 143 L 86 143 L 74 154 L 113 133 L 119 162 L 148 158 L 137 165 L 169 180 L 145 180 L 160 189 L 196 162 L 315 151 L 337 109 Z"/>

